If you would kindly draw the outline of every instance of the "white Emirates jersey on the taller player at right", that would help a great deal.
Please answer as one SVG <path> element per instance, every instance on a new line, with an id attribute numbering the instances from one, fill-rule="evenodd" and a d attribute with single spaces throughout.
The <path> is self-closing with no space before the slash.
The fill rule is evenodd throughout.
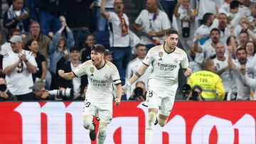
<path id="1" fill-rule="evenodd" d="M 176 89 L 178 87 L 178 70 L 188 68 L 186 52 L 176 47 L 171 53 L 164 50 L 164 45 L 151 48 L 143 60 L 144 65 L 153 66 L 150 87 L 156 89 Z"/>

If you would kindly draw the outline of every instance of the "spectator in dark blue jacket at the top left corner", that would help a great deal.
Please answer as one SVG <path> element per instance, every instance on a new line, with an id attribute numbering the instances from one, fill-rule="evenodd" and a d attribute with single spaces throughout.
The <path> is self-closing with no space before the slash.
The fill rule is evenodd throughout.
<path id="1" fill-rule="evenodd" d="M 10 30 L 16 28 L 21 33 L 28 33 L 28 11 L 23 9 L 23 0 L 14 0 L 11 7 L 4 13 L 4 27 Z"/>

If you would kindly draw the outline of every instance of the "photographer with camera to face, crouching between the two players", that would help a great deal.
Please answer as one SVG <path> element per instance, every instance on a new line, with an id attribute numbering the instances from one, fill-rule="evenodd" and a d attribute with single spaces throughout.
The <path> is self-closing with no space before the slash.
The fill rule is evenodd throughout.
<path id="1" fill-rule="evenodd" d="M 135 85 L 135 89 L 132 92 L 132 96 L 129 97 L 129 101 L 145 101 L 146 99 L 146 87 L 144 82 L 139 81 Z"/>

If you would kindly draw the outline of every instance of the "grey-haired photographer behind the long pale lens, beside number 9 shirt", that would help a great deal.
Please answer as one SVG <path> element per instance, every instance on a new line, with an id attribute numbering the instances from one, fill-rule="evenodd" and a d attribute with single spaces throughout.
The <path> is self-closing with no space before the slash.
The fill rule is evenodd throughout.
<path id="1" fill-rule="evenodd" d="M 33 85 L 33 94 L 38 100 L 55 100 L 54 96 L 51 96 L 46 90 L 43 82 L 37 81 Z"/>

